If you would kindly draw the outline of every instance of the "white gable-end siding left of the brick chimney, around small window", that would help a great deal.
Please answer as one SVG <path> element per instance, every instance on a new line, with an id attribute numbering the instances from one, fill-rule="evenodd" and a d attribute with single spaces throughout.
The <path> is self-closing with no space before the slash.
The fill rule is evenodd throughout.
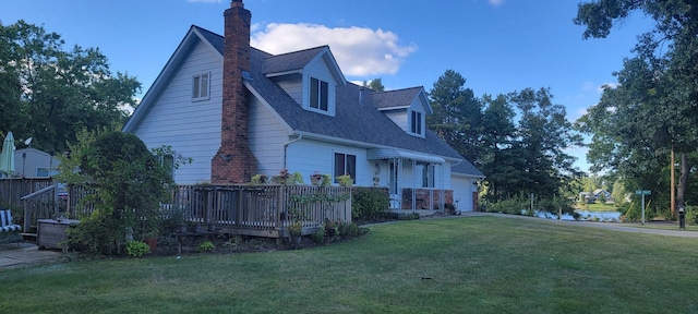
<path id="1" fill-rule="evenodd" d="M 192 77 L 206 72 L 210 73 L 210 98 L 192 101 Z M 193 159 L 174 172 L 179 184 L 210 181 L 210 160 L 220 146 L 221 72 L 220 55 L 196 44 L 133 131 L 148 148 L 170 145 Z"/>

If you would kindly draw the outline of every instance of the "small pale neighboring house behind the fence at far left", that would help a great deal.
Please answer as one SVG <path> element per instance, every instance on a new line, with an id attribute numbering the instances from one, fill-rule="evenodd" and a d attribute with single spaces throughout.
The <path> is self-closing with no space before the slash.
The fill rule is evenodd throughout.
<path id="1" fill-rule="evenodd" d="M 49 178 L 58 174 L 58 158 L 36 148 L 14 150 L 14 172 L 22 178 Z"/>

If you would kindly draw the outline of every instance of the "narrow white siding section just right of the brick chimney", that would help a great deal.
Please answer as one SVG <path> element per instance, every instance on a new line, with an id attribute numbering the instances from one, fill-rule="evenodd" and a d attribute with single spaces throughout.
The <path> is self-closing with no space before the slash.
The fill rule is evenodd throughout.
<path id="1" fill-rule="evenodd" d="M 289 142 L 281 121 L 260 100 L 250 102 L 250 150 L 257 159 L 257 173 L 276 176 L 284 168 L 284 145 Z"/>

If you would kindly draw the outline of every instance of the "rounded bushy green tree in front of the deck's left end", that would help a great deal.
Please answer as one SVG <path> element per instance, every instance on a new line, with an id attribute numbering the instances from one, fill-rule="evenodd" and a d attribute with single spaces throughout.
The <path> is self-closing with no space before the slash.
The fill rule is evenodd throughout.
<path id="1" fill-rule="evenodd" d="M 171 177 L 133 134 L 82 132 L 80 138 L 59 166 L 61 179 L 94 191 L 84 201 L 95 208 L 81 217 L 70 243 L 88 253 L 122 254 L 129 230 L 133 234 L 157 230 L 159 204 Z"/>

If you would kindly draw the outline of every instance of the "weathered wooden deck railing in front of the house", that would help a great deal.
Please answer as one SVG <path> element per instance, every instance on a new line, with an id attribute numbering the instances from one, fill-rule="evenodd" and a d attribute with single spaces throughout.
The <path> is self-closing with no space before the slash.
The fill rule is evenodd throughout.
<path id="1" fill-rule="evenodd" d="M 80 219 L 94 208 L 79 204 L 89 191 L 70 188 L 69 218 Z M 161 216 L 183 215 L 195 225 L 215 225 L 221 233 L 267 238 L 286 235 L 286 226 L 300 221 L 309 234 L 326 219 L 351 221 L 351 189 L 311 185 L 178 185 Z"/>

